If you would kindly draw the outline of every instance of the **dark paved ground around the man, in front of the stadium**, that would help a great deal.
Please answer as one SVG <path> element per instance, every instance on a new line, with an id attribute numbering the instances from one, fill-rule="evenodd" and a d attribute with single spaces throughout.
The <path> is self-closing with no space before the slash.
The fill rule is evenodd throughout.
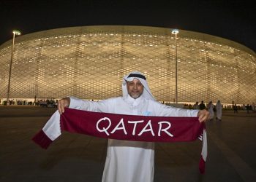
<path id="1" fill-rule="evenodd" d="M 55 110 L 0 106 L 0 181 L 101 181 L 105 139 L 64 132 L 47 150 L 31 141 Z M 156 143 L 154 181 L 256 181 L 256 113 L 224 111 L 207 132 L 204 175 L 197 168 L 200 141 Z"/>

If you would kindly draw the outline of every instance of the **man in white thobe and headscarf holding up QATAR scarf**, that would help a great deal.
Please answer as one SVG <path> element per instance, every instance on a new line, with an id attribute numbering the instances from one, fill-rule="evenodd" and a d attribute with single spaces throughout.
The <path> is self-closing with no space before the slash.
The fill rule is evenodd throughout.
<path id="1" fill-rule="evenodd" d="M 99 102 L 63 98 L 59 100 L 59 113 L 65 107 L 86 111 L 143 116 L 198 116 L 199 122 L 208 119 L 208 111 L 173 108 L 157 102 L 138 71 L 124 76 L 123 97 Z M 154 181 L 154 143 L 108 140 L 108 151 L 102 181 Z"/>

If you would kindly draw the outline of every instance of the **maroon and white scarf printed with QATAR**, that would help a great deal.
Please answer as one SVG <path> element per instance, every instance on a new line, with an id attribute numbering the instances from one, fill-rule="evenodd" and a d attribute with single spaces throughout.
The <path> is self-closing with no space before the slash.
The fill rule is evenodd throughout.
<path id="1" fill-rule="evenodd" d="M 203 141 L 199 169 L 200 173 L 205 171 L 206 124 L 197 117 L 133 116 L 65 108 L 61 116 L 56 111 L 32 140 L 47 149 L 61 130 L 125 141 L 181 142 L 199 138 Z"/>

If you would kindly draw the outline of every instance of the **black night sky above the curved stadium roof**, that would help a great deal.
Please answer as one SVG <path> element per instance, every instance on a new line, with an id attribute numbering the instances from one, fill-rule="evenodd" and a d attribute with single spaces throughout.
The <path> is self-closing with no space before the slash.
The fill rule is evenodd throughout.
<path id="1" fill-rule="evenodd" d="M 151 0 L 154 1 L 154 0 Z M 256 51 L 256 6 L 244 0 L 0 0 L 0 44 L 22 34 L 86 25 L 146 25 L 220 36 Z"/>

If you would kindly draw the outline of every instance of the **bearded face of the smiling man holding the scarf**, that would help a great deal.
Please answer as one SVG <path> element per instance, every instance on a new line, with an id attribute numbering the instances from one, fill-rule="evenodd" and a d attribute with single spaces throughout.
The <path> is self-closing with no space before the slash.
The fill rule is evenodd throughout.
<path id="1" fill-rule="evenodd" d="M 136 99 L 143 93 L 143 84 L 138 79 L 133 79 L 132 82 L 127 82 L 127 90 L 129 96 Z"/>

